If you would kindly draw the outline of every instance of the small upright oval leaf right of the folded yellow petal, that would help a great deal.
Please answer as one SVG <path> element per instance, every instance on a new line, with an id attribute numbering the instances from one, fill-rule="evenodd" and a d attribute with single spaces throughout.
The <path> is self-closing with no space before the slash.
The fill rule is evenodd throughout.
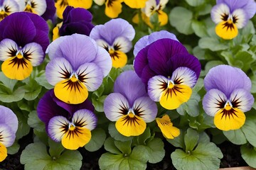
<path id="1" fill-rule="evenodd" d="M 196 130 L 188 128 L 186 135 L 184 136 L 184 142 L 186 145 L 186 152 L 191 152 L 197 145 L 199 135 Z"/>

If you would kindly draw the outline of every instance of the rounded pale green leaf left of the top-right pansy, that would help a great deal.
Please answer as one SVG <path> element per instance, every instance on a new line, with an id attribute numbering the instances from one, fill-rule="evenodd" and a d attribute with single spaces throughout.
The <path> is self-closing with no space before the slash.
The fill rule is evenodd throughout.
<path id="1" fill-rule="evenodd" d="M 193 13 L 181 6 L 174 7 L 169 15 L 171 26 L 174 26 L 179 33 L 189 35 L 193 33 L 191 27 Z"/>

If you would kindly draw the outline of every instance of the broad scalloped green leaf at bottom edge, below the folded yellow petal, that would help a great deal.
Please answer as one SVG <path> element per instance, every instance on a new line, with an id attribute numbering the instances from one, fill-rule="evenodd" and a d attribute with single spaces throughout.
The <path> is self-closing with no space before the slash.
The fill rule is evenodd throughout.
<path id="1" fill-rule="evenodd" d="M 220 149 L 215 144 L 198 143 L 191 152 L 176 149 L 171 153 L 171 160 L 176 169 L 215 170 L 219 169 L 220 159 L 223 157 Z"/>

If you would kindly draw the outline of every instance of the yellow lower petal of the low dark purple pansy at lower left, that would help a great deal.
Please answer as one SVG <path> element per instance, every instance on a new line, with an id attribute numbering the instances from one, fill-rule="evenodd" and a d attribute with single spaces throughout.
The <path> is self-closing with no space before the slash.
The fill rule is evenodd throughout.
<path id="1" fill-rule="evenodd" d="M 63 147 L 66 149 L 75 150 L 78 149 L 78 147 L 83 147 L 92 137 L 90 130 L 86 128 L 75 129 L 68 130 L 61 140 Z"/>

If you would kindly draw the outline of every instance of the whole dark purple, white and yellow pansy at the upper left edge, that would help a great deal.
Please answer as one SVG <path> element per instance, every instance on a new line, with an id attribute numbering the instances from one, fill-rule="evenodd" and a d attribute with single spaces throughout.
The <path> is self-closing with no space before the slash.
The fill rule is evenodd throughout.
<path id="1" fill-rule="evenodd" d="M 12 13 L 0 22 L 1 70 L 6 77 L 26 79 L 43 62 L 48 31 L 46 21 L 34 13 Z"/>

